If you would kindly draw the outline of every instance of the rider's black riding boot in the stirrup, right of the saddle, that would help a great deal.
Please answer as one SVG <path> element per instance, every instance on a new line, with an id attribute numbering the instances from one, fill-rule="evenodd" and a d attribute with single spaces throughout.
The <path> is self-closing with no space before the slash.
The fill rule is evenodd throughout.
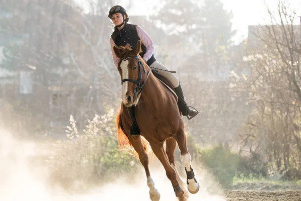
<path id="1" fill-rule="evenodd" d="M 175 91 L 179 96 L 178 104 L 179 104 L 179 108 L 180 108 L 182 115 L 187 116 L 187 118 L 189 120 L 191 120 L 192 118 L 197 116 L 197 114 L 199 114 L 199 112 L 195 108 L 193 108 L 191 106 L 187 106 L 187 104 L 185 102 L 181 83 L 178 87 L 175 88 Z"/>

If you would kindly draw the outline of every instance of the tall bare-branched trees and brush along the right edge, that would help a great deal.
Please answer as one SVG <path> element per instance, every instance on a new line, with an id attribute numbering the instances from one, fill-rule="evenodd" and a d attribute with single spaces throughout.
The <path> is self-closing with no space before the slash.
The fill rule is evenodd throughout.
<path id="1" fill-rule="evenodd" d="M 248 91 L 254 111 L 242 135 L 242 149 L 256 156 L 270 175 L 301 178 L 301 22 L 294 24 L 301 18 L 280 0 L 276 15 L 268 12 L 271 25 L 249 28 L 244 57 L 249 73 L 240 86 Z"/>

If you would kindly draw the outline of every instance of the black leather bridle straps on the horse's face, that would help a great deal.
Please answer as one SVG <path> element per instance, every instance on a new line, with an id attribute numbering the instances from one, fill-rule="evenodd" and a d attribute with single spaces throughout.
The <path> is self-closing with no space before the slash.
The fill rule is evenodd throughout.
<path id="1" fill-rule="evenodd" d="M 147 80 L 147 78 L 148 78 L 148 76 L 149 76 L 150 68 L 149 68 L 148 72 L 146 73 L 145 68 L 144 68 L 144 66 L 143 66 L 143 63 L 141 62 L 140 58 L 139 58 L 139 57 L 136 57 L 136 56 L 130 56 L 130 57 L 127 57 L 127 58 L 125 58 L 125 59 L 122 59 L 122 58 L 121 58 L 120 60 L 126 61 L 127 59 L 130 59 L 130 58 L 138 59 L 138 65 L 139 65 L 139 76 L 138 76 L 138 79 L 137 79 L 137 80 L 133 80 L 133 79 L 122 79 L 121 84 L 122 84 L 123 82 L 125 82 L 125 81 L 129 81 L 129 82 L 133 82 L 133 83 L 137 84 L 137 86 L 133 87 L 133 92 L 134 92 L 135 95 L 137 95 L 137 94 L 139 94 L 139 93 L 141 92 L 141 90 L 142 90 L 142 88 L 143 88 L 143 86 L 144 86 L 144 84 L 145 84 L 145 82 L 146 82 L 146 80 Z M 145 75 L 146 75 L 146 78 L 145 78 L 145 80 L 144 80 L 143 83 L 141 83 L 141 80 L 142 80 L 141 68 L 143 69 L 143 71 L 144 71 L 144 73 L 145 73 Z"/>

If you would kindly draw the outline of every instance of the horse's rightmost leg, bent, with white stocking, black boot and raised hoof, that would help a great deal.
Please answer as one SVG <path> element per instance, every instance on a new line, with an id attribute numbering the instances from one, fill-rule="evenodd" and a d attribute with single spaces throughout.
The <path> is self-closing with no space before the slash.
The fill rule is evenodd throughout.
<path id="1" fill-rule="evenodd" d="M 191 167 L 191 156 L 187 149 L 187 137 L 185 135 L 184 129 L 180 129 L 176 136 L 174 136 L 178 142 L 179 149 L 181 151 L 181 161 L 185 166 L 186 175 L 187 175 L 187 184 L 188 190 L 190 193 L 195 194 L 200 189 L 200 184 L 195 178 L 193 169 Z"/>

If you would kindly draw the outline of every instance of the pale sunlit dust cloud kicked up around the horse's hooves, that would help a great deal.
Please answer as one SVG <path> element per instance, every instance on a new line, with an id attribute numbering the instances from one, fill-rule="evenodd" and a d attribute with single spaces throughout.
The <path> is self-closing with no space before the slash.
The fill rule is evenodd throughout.
<path id="1" fill-rule="evenodd" d="M 107 181 L 107 184 L 94 188 L 86 193 L 69 193 L 49 182 L 49 168 L 33 160 L 47 155 L 49 147 L 37 142 L 14 138 L 11 133 L 0 128 L 0 200 L 3 201 L 48 201 L 48 200 L 150 200 L 144 172 L 139 172 L 141 181 L 132 184 L 124 178 Z M 51 150 L 50 150 L 51 151 Z M 143 170 L 142 166 L 141 169 Z M 177 200 L 170 181 L 163 168 L 150 167 L 155 186 L 161 194 L 161 200 Z M 225 200 L 210 177 L 202 170 L 195 168 L 201 185 L 197 194 L 190 195 L 189 200 Z M 203 176 L 205 175 L 205 176 Z M 112 177 L 114 175 L 112 174 Z M 221 192 L 220 189 L 218 191 Z"/>

